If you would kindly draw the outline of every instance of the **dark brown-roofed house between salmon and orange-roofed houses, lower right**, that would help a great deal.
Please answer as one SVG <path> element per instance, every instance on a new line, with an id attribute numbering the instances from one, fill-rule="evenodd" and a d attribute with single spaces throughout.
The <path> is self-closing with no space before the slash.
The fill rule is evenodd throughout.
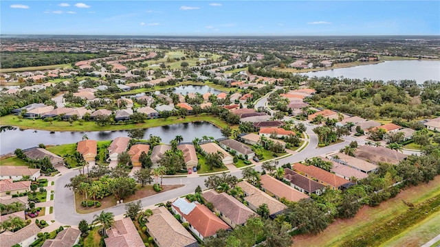
<path id="1" fill-rule="evenodd" d="M 317 195 L 320 195 L 325 191 L 324 185 L 298 174 L 298 172 L 294 172 L 289 168 L 284 169 L 284 178 L 290 181 L 290 185 L 292 185 L 292 187 L 303 193 L 316 193 Z"/>

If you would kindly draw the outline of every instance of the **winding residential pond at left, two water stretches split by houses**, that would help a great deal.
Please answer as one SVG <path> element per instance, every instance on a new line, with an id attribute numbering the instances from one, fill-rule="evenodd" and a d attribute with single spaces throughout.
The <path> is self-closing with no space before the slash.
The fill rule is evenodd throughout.
<path id="1" fill-rule="evenodd" d="M 86 132 L 54 132 L 46 130 L 5 130 L 0 133 L 0 154 L 14 152 L 17 148 L 32 148 L 43 143 L 45 145 L 58 145 L 65 143 L 76 143 L 87 134 L 89 139 L 98 141 L 113 140 L 116 137 L 128 137 L 126 130 L 116 131 L 86 131 Z M 220 128 L 206 121 L 192 122 L 186 124 L 172 124 L 170 126 L 153 127 L 145 129 L 144 139 L 153 134 L 161 137 L 163 143 L 169 143 L 177 135 L 184 137 L 184 142 L 191 142 L 195 137 L 203 136 L 221 138 Z"/>

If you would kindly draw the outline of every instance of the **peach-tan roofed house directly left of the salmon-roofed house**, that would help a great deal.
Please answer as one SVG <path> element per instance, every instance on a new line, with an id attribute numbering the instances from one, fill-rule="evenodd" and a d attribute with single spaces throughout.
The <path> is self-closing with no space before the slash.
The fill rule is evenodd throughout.
<path id="1" fill-rule="evenodd" d="M 274 218 L 276 217 L 276 215 L 282 213 L 283 211 L 285 211 L 285 209 L 287 209 L 287 206 L 285 204 L 278 202 L 278 200 L 252 186 L 248 182 L 241 181 L 236 184 L 236 187 L 241 187 L 241 189 L 245 193 L 244 200 L 248 202 L 250 209 L 252 209 L 253 211 L 256 211 L 256 209 L 258 209 L 261 204 L 267 204 L 270 212 L 270 217 Z"/>

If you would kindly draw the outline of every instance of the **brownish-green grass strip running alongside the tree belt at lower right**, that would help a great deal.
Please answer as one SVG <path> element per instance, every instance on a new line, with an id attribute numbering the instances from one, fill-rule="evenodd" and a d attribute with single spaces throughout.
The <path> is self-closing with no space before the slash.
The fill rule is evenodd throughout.
<path id="1" fill-rule="evenodd" d="M 382 202 L 378 207 L 364 206 L 352 219 L 336 220 L 318 235 L 298 235 L 294 237 L 295 246 L 339 246 L 342 242 L 355 239 L 365 232 L 377 228 L 380 224 L 386 224 L 393 217 L 408 211 L 408 207 L 402 200 L 419 204 L 439 195 L 440 176 L 437 176 L 428 184 L 423 183 L 417 187 L 402 190 L 395 198 Z M 429 220 L 430 218 L 426 221 Z"/>

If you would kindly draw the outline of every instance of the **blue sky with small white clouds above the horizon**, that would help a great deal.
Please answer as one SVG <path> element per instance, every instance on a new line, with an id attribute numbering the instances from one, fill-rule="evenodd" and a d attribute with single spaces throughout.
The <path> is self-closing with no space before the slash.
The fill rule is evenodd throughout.
<path id="1" fill-rule="evenodd" d="M 440 35 L 440 1 L 8 1 L 1 34 Z"/>

